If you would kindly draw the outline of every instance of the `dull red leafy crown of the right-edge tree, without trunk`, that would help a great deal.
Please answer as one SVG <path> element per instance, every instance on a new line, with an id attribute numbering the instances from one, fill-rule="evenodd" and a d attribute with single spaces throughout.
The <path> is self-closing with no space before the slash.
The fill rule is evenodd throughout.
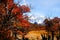
<path id="1" fill-rule="evenodd" d="M 45 19 L 44 22 L 45 22 L 45 24 L 47 25 L 48 22 L 49 22 L 49 20 Z M 52 25 L 50 22 L 52 22 L 53 25 Z M 50 22 L 49 22 L 49 24 L 51 24 L 51 26 L 50 26 L 50 27 L 47 26 L 47 27 L 46 27 L 46 30 L 58 31 L 58 30 L 59 30 L 59 26 L 60 26 L 60 18 L 55 17 L 55 18 L 53 18 L 53 19 L 50 19 Z"/>

